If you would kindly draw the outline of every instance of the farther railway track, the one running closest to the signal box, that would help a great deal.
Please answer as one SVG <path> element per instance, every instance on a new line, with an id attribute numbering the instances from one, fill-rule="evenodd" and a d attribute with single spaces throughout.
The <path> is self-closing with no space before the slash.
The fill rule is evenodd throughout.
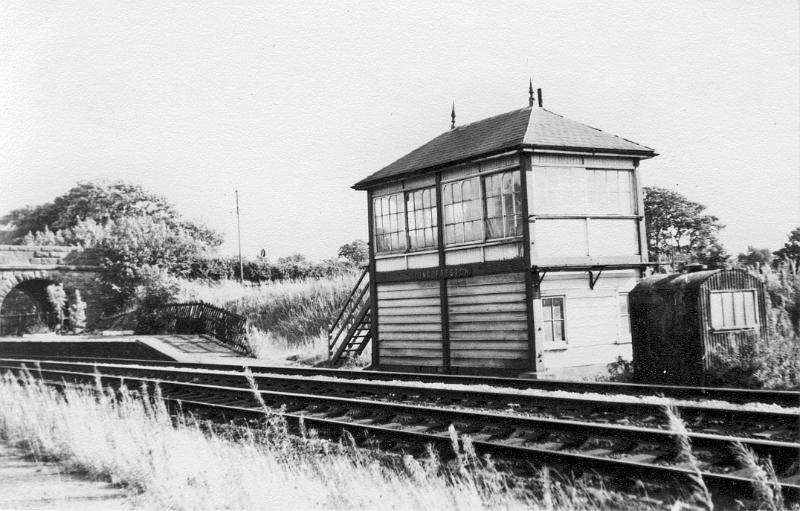
<path id="1" fill-rule="evenodd" d="M 6 361 L 7 362 L 7 361 Z M 21 363 L 16 360 L 15 363 Z M 91 372 L 97 367 L 103 374 L 143 377 L 153 380 L 169 379 L 194 383 L 220 384 L 247 388 L 241 371 L 220 372 L 196 368 L 168 368 L 115 364 L 79 363 L 64 361 L 35 361 L 43 368 Z M 12 365 L 5 367 L 13 367 Z M 224 374 L 223 374 L 224 373 Z M 491 410 L 497 413 L 530 417 L 584 420 L 607 424 L 631 425 L 649 428 L 668 427 L 663 404 L 626 399 L 588 398 L 549 391 L 466 390 L 457 386 L 431 386 L 403 382 L 375 382 L 370 379 L 342 380 L 330 376 L 297 376 L 271 374 L 257 371 L 255 381 L 260 389 L 305 393 L 321 396 L 339 396 L 376 401 L 426 404 L 458 409 Z M 758 410 L 736 406 L 709 406 L 701 402 L 681 401 L 676 405 L 690 431 L 708 434 L 726 434 L 764 440 L 800 441 L 798 417 L 793 411 Z"/>

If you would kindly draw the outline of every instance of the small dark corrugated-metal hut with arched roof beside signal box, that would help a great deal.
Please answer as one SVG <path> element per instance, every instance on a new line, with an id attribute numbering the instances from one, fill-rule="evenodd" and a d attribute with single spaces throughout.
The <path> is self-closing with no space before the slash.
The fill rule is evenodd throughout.
<path id="1" fill-rule="evenodd" d="M 741 270 L 647 277 L 630 308 L 634 373 L 645 382 L 702 384 L 720 353 L 768 336 L 764 285 Z"/>

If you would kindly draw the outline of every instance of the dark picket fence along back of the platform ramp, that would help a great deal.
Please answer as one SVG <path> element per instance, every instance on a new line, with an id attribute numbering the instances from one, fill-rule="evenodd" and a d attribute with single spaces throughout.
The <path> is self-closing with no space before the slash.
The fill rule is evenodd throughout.
<path id="1" fill-rule="evenodd" d="M 247 319 L 220 307 L 205 303 L 173 303 L 156 307 L 140 318 L 141 333 L 204 334 L 230 348 L 252 354 L 247 343 Z"/>

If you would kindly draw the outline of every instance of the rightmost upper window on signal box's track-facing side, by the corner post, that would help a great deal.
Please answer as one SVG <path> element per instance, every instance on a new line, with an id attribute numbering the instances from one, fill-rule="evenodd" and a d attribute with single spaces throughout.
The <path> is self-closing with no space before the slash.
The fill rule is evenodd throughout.
<path id="1" fill-rule="evenodd" d="M 486 192 L 486 238 L 522 235 L 522 195 L 519 172 L 504 172 L 483 178 Z"/>

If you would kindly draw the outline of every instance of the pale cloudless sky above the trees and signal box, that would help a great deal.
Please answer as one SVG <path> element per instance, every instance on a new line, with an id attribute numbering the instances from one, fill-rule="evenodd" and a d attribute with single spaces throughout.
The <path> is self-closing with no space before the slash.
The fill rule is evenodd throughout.
<path id="1" fill-rule="evenodd" d="M 78 181 L 164 195 L 245 256 L 366 239 L 350 186 L 457 124 L 544 106 L 655 148 L 644 185 L 729 252 L 800 226 L 792 0 L 0 2 L 0 214 Z"/>

